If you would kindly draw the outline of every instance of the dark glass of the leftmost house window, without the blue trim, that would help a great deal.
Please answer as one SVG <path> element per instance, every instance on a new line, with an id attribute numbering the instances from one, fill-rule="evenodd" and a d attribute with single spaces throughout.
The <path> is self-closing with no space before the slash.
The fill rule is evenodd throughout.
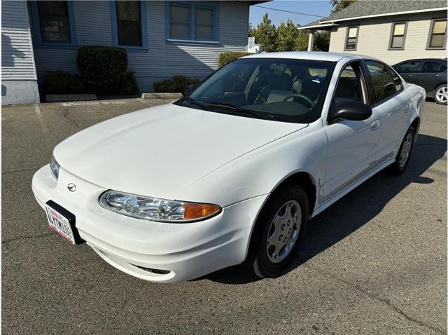
<path id="1" fill-rule="evenodd" d="M 42 42 L 70 43 L 67 1 L 36 1 Z"/>

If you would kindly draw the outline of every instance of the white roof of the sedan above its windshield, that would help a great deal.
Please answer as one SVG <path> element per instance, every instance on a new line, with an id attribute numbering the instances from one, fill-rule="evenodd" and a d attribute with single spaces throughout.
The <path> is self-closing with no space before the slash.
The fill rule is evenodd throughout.
<path id="1" fill-rule="evenodd" d="M 292 60 L 326 60 L 328 62 L 338 62 L 342 58 L 351 57 L 352 59 L 369 58 L 363 55 L 353 53 L 328 53 L 326 51 L 286 51 L 282 53 L 255 53 L 253 55 L 241 58 L 289 58 Z"/>

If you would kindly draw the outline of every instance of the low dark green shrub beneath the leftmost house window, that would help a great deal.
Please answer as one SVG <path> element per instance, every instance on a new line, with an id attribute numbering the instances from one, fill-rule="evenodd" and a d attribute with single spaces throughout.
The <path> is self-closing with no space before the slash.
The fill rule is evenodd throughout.
<path id="1" fill-rule="evenodd" d="M 86 93 L 83 79 L 79 74 L 66 71 L 49 71 L 43 81 L 45 94 Z"/>

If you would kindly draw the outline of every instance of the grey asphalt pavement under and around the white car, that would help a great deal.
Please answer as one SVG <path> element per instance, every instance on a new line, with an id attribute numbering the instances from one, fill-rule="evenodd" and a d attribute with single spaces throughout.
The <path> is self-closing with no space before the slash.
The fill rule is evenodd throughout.
<path id="1" fill-rule="evenodd" d="M 65 137 L 163 101 L 3 107 L 3 334 L 446 334 L 447 109 L 426 103 L 408 170 L 311 220 L 288 273 L 144 282 L 50 233 L 31 177 Z"/>

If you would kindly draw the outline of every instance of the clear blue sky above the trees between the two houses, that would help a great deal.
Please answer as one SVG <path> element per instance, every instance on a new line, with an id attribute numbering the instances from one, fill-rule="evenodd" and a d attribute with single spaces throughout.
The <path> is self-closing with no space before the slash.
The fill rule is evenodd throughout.
<path id="1" fill-rule="evenodd" d="M 264 13 L 269 14 L 269 18 L 276 26 L 280 25 L 280 22 L 286 22 L 291 19 L 293 22 L 299 25 L 306 25 L 309 22 L 318 20 L 316 16 L 299 15 L 294 13 L 285 13 L 280 11 L 272 11 L 266 8 L 260 8 L 258 6 L 277 8 L 283 11 L 293 11 L 299 13 L 307 13 L 314 15 L 321 15 L 322 17 L 330 15 L 332 9 L 330 0 L 290 0 L 290 1 L 269 1 L 256 6 L 251 6 L 249 12 L 249 22 L 256 27 L 261 22 Z"/>

